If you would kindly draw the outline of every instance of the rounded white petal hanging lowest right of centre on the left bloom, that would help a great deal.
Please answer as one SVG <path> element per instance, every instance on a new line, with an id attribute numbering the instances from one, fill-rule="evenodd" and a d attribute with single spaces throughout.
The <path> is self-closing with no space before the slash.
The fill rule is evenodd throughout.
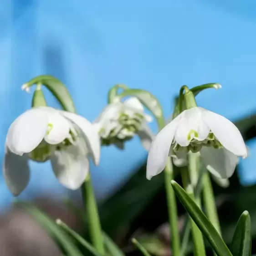
<path id="1" fill-rule="evenodd" d="M 68 189 L 78 189 L 87 177 L 89 160 L 84 153 L 80 144 L 70 145 L 50 158 L 54 174 Z"/>

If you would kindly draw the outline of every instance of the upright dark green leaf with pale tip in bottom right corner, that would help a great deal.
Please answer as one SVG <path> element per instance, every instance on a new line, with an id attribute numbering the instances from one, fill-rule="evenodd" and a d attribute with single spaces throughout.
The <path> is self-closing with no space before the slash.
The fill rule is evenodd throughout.
<path id="1" fill-rule="evenodd" d="M 251 256 L 251 218 L 244 211 L 236 224 L 236 230 L 230 245 L 233 256 Z"/>

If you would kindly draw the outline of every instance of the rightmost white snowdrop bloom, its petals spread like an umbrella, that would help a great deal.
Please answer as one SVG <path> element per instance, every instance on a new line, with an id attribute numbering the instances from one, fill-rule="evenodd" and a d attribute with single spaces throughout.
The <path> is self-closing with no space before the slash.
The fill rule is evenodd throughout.
<path id="1" fill-rule="evenodd" d="M 200 152 L 206 168 L 218 178 L 229 178 L 247 149 L 238 128 L 204 108 L 180 113 L 154 138 L 148 154 L 147 178 L 163 171 L 168 156 L 184 164 L 187 153 Z"/>

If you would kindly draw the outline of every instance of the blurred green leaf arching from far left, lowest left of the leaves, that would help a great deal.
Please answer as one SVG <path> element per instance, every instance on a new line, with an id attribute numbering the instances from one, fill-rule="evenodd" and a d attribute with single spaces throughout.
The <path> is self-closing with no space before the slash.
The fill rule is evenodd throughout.
<path id="1" fill-rule="evenodd" d="M 43 228 L 45 228 L 48 233 L 55 237 L 56 240 L 61 244 L 63 249 L 67 252 L 67 256 L 82 256 L 82 253 L 77 249 L 73 241 L 46 214 L 29 203 L 18 202 L 15 203 L 15 205 L 22 207 L 33 215 L 35 219 L 43 226 Z"/>

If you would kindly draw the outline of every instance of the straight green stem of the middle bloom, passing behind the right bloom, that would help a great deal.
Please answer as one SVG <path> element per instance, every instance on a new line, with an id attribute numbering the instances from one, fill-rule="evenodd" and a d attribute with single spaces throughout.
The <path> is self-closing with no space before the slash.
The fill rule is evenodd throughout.
<path id="1" fill-rule="evenodd" d="M 158 119 L 158 125 L 159 125 L 159 131 L 162 128 L 164 128 L 165 120 L 163 116 Z M 171 237 L 171 249 L 172 249 L 172 255 L 181 256 L 177 203 L 176 203 L 175 192 L 171 185 L 171 180 L 173 179 L 173 176 L 174 174 L 173 174 L 172 159 L 168 158 L 167 164 L 164 168 L 164 181 L 165 181 L 165 191 L 166 191 L 166 198 L 167 198 L 169 232 Z"/>

